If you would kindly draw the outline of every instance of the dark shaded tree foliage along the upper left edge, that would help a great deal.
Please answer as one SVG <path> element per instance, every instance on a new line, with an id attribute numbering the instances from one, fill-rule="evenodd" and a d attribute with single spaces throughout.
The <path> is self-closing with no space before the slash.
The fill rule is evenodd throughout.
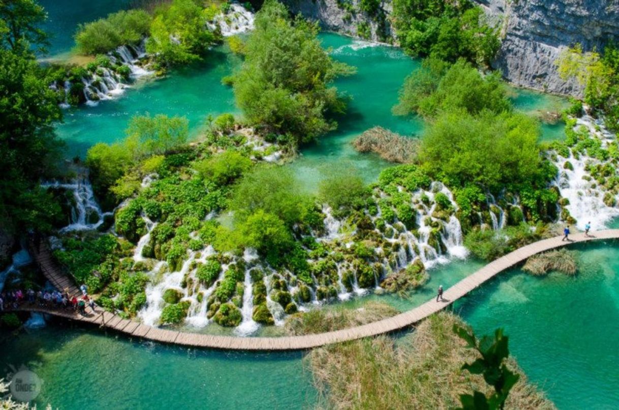
<path id="1" fill-rule="evenodd" d="M 62 219 L 53 196 L 38 188 L 56 171 L 61 144 L 52 124 L 62 118 L 50 73 L 30 52 L 29 41 L 44 39 L 44 17 L 33 1 L 0 3 L 0 226 L 13 232 L 50 230 Z"/>

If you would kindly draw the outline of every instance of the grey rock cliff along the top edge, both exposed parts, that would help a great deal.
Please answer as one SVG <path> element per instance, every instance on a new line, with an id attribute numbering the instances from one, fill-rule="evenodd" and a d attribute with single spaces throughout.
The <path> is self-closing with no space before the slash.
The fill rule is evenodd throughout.
<path id="1" fill-rule="evenodd" d="M 563 81 L 555 66 L 561 50 L 581 43 L 584 50 L 602 50 L 619 40 L 619 2 L 613 0 L 474 0 L 501 25 L 503 43 L 493 66 L 510 82 L 557 94 L 582 95 L 574 80 Z M 371 39 L 377 24 L 361 13 L 351 14 L 337 0 L 285 0 L 288 7 L 321 22 L 326 30 L 360 37 L 360 22 L 368 22 Z M 353 0 L 357 7 L 358 0 Z M 383 2 L 387 14 L 391 1 Z M 391 27 L 387 31 L 391 32 Z M 396 40 L 397 41 L 397 40 Z"/>

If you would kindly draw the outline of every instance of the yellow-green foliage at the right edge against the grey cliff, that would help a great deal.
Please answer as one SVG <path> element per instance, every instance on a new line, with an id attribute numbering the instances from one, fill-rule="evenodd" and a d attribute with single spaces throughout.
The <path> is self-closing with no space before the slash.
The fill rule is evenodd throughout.
<path id="1" fill-rule="evenodd" d="M 556 60 L 563 79 L 576 77 L 584 85 L 584 102 L 601 111 L 605 124 L 619 131 L 619 49 L 613 43 L 604 48 L 603 55 L 583 51 L 580 45 L 565 49 Z"/>

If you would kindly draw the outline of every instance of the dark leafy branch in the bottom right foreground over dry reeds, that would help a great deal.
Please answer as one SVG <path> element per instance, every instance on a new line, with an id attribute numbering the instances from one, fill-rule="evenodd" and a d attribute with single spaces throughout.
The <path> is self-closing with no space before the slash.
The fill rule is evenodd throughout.
<path id="1" fill-rule="evenodd" d="M 483 375 L 483 380 L 495 389 L 490 396 L 477 390 L 472 395 L 461 395 L 462 410 L 503 409 L 509 391 L 520 378 L 519 374 L 509 370 L 504 363 L 509 357 L 508 336 L 503 334 L 503 329 L 496 329 L 494 338 L 483 336 L 478 341 L 472 331 L 462 326 L 454 324 L 453 331 L 467 342 L 467 347 L 477 350 L 481 355 L 474 362 L 462 365 L 462 370 Z"/>

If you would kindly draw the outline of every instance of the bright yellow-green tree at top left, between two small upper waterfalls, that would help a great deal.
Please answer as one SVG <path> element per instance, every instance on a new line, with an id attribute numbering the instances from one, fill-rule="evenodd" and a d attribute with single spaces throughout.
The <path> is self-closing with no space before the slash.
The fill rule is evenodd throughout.
<path id="1" fill-rule="evenodd" d="M 146 49 L 160 64 L 174 66 L 200 59 L 216 40 L 206 27 L 201 2 L 173 0 L 155 11 Z"/>

